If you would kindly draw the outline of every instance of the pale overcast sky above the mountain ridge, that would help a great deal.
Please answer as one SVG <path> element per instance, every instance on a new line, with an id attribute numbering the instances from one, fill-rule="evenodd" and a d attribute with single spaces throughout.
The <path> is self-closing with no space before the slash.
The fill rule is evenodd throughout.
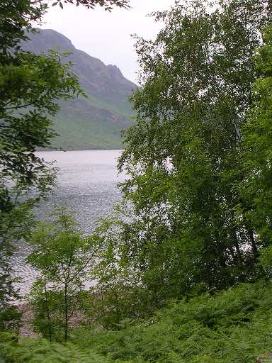
<path id="1" fill-rule="evenodd" d="M 100 6 L 94 10 L 66 4 L 62 10 L 55 6 L 45 16 L 42 28 L 57 30 L 76 48 L 106 65 L 117 65 L 125 77 L 136 82 L 137 55 L 130 35 L 154 38 L 162 23 L 155 23 L 147 13 L 169 9 L 174 0 L 131 0 L 130 4 L 130 10 L 115 8 L 111 13 Z"/>

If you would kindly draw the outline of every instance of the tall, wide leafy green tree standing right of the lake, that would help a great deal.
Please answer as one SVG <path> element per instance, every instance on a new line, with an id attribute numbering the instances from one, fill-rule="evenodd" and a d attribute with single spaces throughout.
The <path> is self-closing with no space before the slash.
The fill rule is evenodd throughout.
<path id="1" fill-rule="evenodd" d="M 271 243 L 266 6 L 176 4 L 157 13 L 165 26 L 156 40 L 137 40 L 142 83 L 120 158 L 130 211 L 114 255 L 138 275 L 153 308 L 263 276 L 259 251 Z"/>

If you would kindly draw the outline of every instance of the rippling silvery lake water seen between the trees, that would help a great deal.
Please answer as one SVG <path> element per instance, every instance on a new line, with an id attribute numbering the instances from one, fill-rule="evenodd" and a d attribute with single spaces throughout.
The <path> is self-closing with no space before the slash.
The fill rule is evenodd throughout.
<path id="1" fill-rule="evenodd" d="M 106 216 L 120 201 L 116 184 L 125 180 L 125 176 L 118 175 L 116 169 L 120 153 L 120 150 L 37 152 L 45 161 L 55 161 L 60 169 L 57 174 L 60 186 L 48 201 L 39 206 L 40 218 L 46 218 L 54 206 L 66 206 L 81 228 L 86 233 L 91 232 L 97 218 Z M 37 276 L 24 262 L 28 252 L 28 245 L 20 242 L 18 251 L 13 255 L 14 274 L 23 277 L 23 282 L 18 284 L 21 294 L 30 289 Z"/>

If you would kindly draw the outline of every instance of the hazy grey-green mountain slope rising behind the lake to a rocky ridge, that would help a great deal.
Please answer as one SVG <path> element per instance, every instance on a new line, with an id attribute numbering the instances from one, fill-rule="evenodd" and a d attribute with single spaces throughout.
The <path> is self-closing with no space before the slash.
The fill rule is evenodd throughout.
<path id="1" fill-rule="evenodd" d="M 77 50 L 71 41 L 55 30 L 39 29 L 29 33 L 24 50 L 40 53 L 50 49 L 69 51 L 65 59 L 74 63 L 87 99 L 61 102 L 61 110 L 54 128 L 60 135 L 52 141 L 54 147 L 65 150 L 121 148 L 120 131 L 131 125 L 132 110 L 128 98 L 136 85 L 123 77 L 115 65 L 104 65 L 101 60 Z"/>

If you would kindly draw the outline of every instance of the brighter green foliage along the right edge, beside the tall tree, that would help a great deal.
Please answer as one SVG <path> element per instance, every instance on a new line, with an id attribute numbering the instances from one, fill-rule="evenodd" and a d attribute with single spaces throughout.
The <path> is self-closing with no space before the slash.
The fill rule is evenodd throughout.
<path id="1" fill-rule="evenodd" d="M 259 244 L 271 250 L 272 237 L 272 26 L 263 32 L 264 45 L 255 55 L 259 78 L 254 82 L 253 105 L 242 126 L 242 175 L 237 184 L 245 201 L 239 213 L 253 225 Z M 269 255 L 269 254 L 268 254 Z M 267 265 L 267 263 L 266 263 Z M 268 267 L 268 266 L 266 266 Z"/>

